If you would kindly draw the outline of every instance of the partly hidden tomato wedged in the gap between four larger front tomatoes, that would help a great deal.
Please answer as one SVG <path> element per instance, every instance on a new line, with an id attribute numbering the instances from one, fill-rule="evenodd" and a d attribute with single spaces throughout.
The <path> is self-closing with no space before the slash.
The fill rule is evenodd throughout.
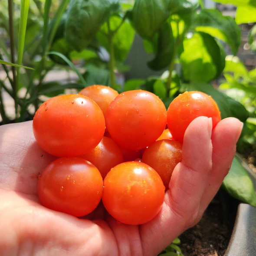
<path id="1" fill-rule="evenodd" d="M 103 179 L 112 167 L 124 161 L 120 147 L 112 138 L 108 137 L 103 137 L 96 148 L 81 157 L 94 164 L 102 174 Z"/>

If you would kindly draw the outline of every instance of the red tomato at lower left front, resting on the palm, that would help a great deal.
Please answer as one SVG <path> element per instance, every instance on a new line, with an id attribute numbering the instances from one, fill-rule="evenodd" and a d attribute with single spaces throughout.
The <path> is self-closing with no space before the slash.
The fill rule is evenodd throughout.
<path id="1" fill-rule="evenodd" d="M 102 176 L 82 158 L 59 158 L 49 164 L 38 181 L 43 206 L 81 217 L 92 212 L 101 200 Z"/>

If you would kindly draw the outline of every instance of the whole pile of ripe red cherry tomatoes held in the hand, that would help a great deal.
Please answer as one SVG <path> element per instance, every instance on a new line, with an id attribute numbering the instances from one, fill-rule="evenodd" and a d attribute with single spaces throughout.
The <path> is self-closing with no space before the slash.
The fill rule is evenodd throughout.
<path id="1" fill-rule="evenodd" d="M 182 160 L 184 132 L 201 115 L 212 117 L 213 127 L 220 121 L 217 104 L 201 92 L 179 95 L 167 111 L 151 92 L 118 94 L 103 85 L 49 99 L 35 114 L 33 132 L 60 158 L 39 176 L 39 200 L 77 217 L 102 200 L 122 223 L 148 222 Z"/>

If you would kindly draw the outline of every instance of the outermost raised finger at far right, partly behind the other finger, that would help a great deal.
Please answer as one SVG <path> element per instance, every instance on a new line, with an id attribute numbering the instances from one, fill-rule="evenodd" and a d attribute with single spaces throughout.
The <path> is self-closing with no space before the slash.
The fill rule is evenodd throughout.
<path id="1" fill-rule="evenodd" d="M 224 177 L 230 169 L 236 153 L 236 142 L 238 141 L 242 128 L 243 123 L 238 119 L 226 118 L 220 121 L 213 130 L 213 167 L 209 175 L 207 189 L 200 203 L 199 218 L 217 193 Z"/>

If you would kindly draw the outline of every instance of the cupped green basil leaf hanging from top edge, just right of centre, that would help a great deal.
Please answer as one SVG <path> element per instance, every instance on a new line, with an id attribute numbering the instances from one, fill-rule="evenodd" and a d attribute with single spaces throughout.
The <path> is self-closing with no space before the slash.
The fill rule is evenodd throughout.
<path id="1" fill-rule="evenodd" d="M 151 39 L 169 15 L 169 0 L 136 0 L 131 13 L 133 26 L 144 39 Z"/>

